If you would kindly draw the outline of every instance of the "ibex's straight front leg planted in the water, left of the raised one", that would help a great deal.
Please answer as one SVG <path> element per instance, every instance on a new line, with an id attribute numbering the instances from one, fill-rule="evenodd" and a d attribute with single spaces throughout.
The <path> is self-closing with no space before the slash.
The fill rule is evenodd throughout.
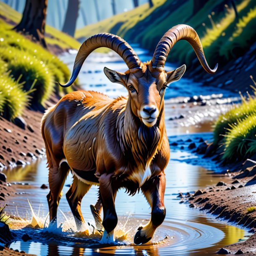
<path id="1" fill-rule="evenodd" d="M 118 224 L 118 217 L 115 212 L 115 196 L 117 190 L 112 186 L 111 176 L 111 174 L 103 174 L 99 177 L 99 190 L 104 214 L 102 222 L 104 233 L 101 243 L 113 243 L 115 241 L 114 229 Z"/>

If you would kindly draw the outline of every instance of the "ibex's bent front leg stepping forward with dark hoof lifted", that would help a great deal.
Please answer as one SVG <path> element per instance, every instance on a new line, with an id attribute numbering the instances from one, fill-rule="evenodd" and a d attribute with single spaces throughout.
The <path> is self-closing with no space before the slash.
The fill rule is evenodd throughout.
<path id="1" fill-rule="evenodd" d="M 143 227 L 139 227 L 138 231 L 134 236 L 135 244 L 143 244 L 149 242 L 152 239 L 155 230 L 165 219 L 165 205 L 164 205 L 164 195 L 165 195 L 165 174 L 149 179 L 142 187 L 142 192 L 148 200 L 152 212 L 151 219 Z"/>

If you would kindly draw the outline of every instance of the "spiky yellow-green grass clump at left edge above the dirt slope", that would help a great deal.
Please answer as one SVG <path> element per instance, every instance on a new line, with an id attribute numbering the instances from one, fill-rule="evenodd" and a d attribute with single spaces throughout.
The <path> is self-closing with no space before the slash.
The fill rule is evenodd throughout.
<path id="1" fill-rule="evenodd" d="M 29 92 L 8 74 L 0 75 L 0 115 L 7 120 L 20 116 L 29 104 Z"/>

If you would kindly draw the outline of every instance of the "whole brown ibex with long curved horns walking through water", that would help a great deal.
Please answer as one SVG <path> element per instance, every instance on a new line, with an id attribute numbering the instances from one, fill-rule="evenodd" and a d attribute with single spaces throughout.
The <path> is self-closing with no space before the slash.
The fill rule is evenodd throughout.
<path id="1" fill-rule="evenodd" d="M 150 221 L 138 228 L 134 243 L 151 240 L 165 219 L 165 167 L 170 157 L 164 121 L 165 89 L 185 72 L 185 65 L 169 72 L 164 66 L 173 45 L 181 39 L 191 44 L 203 68 L 215 73 L 217 65 L 209 68 L 196 31 L 187 25 L 168 30 L 148 63 L 141 63 L 131 46 L 113 34 L 96 34 L 81 45 L 72 76 L 62 86 L 73 84 L 93 50 L 108 47 L 123 58 L 128 70 L 119 73 L 104 68 L 104 73 L 111 82 L 125 86 L 128 96 L 111 99 L 99 92 L 74 91 L 45 113 L 42 136 L 49 166 L 51 223 L 56 219 L 63 184 L 71 169 L 73 184 L 66 197 L 78 228 L 84 222 L 81 200 L 91 185 L 99 185 L 99 198 L 91 209 L 96 221 L 101 221 L 103 207 L 101 242 L 112 243 L 118 223 L 118 189 L 126 188 L 131 195 L 141 189 L 152 212 Z"/>

